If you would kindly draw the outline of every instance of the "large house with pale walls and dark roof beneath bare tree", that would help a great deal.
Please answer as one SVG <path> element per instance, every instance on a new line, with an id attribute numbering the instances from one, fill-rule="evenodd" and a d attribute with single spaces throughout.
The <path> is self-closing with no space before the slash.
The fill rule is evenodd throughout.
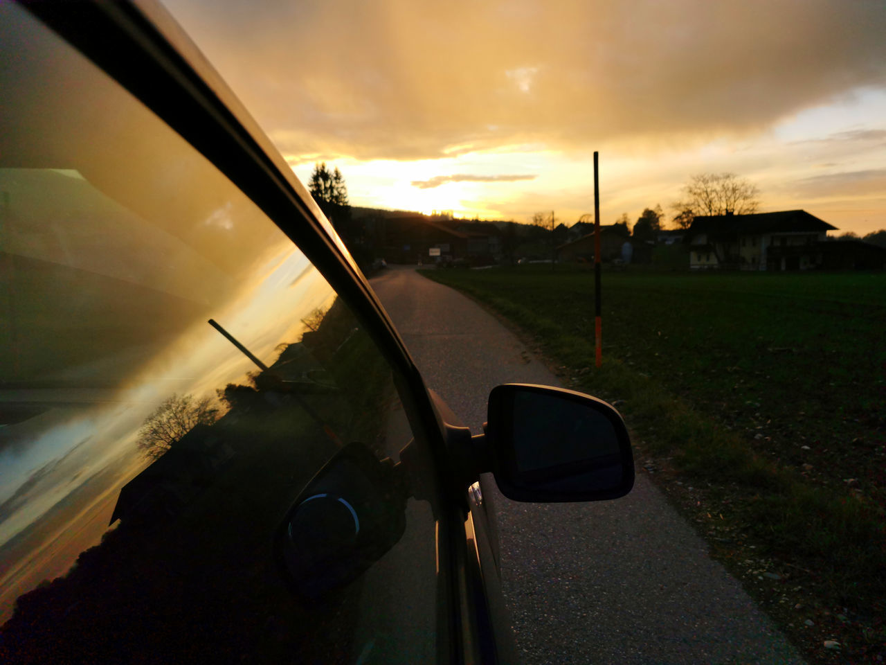
<path id="1" fill-rule="evenodd" d="M 692 270 L 809 270 L 822 265 L 822 243 L 835 228 L 805 210 L 701 215 L 684 241 Z"/>

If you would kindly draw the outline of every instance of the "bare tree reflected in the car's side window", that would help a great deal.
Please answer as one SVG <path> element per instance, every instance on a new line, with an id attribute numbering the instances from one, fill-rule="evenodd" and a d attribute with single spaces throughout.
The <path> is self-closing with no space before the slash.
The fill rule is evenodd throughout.
<path id="1" fill-rule="evenodd" d="M 194 426 L 212 425 L 216 419 L 218 409 L 209 397 L 196 400 L 193 395 L 173 394 L 144 419 L 136 445 L 144 457 L 159 459 Z"/>

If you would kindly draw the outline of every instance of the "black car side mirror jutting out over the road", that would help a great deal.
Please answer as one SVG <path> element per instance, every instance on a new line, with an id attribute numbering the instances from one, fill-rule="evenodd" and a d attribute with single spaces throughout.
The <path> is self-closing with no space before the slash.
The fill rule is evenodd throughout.
<path id="1" fill-rule="evenodd" d="M 501 493 L 517 501 L 600 501 L 633 488 L 625 421 L 590 395 L 523 384 L 494 387 L 485 439 Z"/>

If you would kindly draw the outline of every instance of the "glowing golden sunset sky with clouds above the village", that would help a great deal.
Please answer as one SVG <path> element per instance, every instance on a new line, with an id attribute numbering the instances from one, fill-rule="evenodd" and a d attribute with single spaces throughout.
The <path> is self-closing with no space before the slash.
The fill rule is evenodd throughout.
<path id="1" fill-rule="evenodd" d="M 307 183 L 352 205 L 574 223 L 700 173 L 886 228 L 882 0 L 165 0 Z"/>

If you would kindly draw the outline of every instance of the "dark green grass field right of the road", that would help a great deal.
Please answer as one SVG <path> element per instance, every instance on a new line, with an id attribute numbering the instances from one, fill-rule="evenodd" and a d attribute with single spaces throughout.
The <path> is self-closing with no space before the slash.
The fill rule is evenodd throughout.
<path id="1" fill-rule="evenodd" d="M 532 335 L 567 383 L 621 400 L 641 451 L 706 488 L 707 508 L 689 503 L 721 554 L 753 543 L 853 608 L 856 653 L 886 638 L 886 275 L 604 271 L 600 370 L 589 267 L 426 275 Z"/>

